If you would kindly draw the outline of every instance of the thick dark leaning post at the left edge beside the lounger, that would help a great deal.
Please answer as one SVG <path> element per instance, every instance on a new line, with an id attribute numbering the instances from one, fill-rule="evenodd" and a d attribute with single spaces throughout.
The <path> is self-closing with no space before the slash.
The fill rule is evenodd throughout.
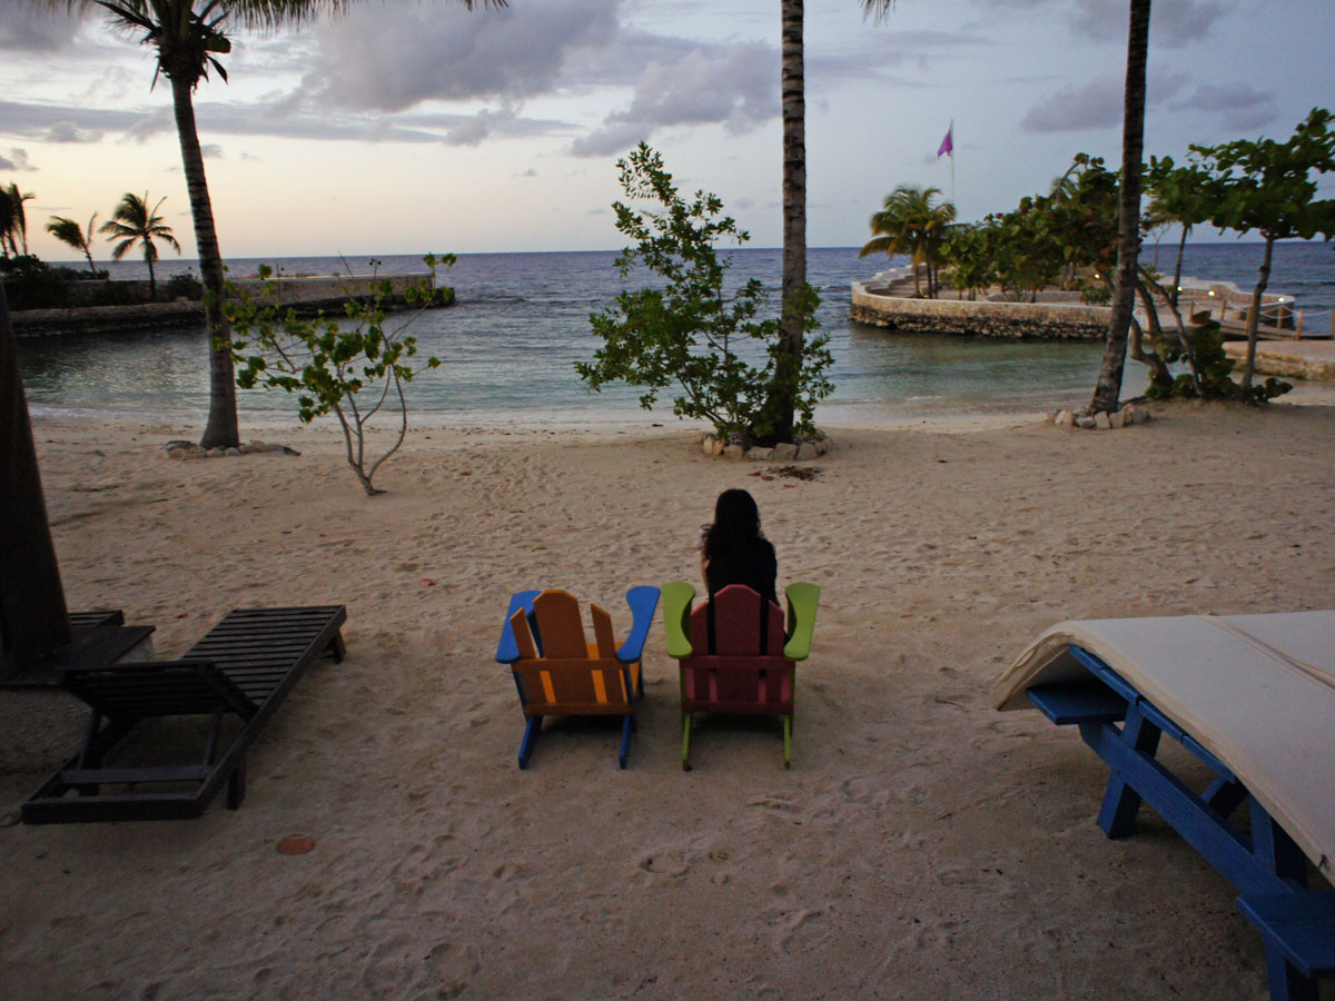
<path id="1" fill-rule="evenodd" d="M 37 451 L 0 284 L 0 645 L 31 661 L 69 642 L 69 617 L 41 495 Z"/>

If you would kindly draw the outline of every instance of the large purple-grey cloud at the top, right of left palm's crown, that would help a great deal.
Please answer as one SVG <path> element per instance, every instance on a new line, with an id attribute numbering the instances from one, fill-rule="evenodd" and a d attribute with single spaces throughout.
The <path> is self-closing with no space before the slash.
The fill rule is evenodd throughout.
<path id="1" fill-rule="evenodd" d="M 300 104 L 405 111 L 427 100 L 517 101 L 551 92 L 577 51 L 618 29 L 621 0 L 534 0 L 517 9 L 358 7 L 312 29 L 319 65 Z"/>

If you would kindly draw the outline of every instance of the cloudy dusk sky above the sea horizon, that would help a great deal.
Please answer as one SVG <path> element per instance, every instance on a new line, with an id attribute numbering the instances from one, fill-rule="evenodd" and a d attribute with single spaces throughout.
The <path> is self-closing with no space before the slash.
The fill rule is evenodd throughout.
<path id="1" fill-rule="evenodd" d="M 897 184 L 949 196 L 952 120 L 961 220 L 1047 190 L 1076 152 L 1116 167 L 1125 35 L 1125 0 L 900 0 L 880 24 L 808 0 L 809 246 L 864 243 Z M 1149 35 L 1147 157 L 1286 139 L 1335 104 L 1332 0 L 1155 0 Z M 778 36 L 778 0 L 372 0 L 235 29 L 231 81 L 195 96 L 223 255 L 617 248 L 615 160 L 641 140 L 750 246 L 777 246 Z M 152 77 L 101 8 L 0 0 L 0 184 L 33 192 L 40 256 L 72 255 L 51 215 L 105 219 L 125 191 L 166 196 L 194 256 L 171 88 Z"/>

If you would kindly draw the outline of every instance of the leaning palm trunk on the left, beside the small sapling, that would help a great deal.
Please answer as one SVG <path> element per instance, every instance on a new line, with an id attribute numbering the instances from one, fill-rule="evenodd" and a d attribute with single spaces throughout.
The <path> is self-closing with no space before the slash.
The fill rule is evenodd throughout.
<path id="1" fill-rule="evenodd" d="M 206 448 L 227 448 L 240 443 L 236 428 L 236 378 L 232 368 L 231 328 L 223 316 L 223 255 L 214 230 L 214 207 L 208 200 L 204 155 L 199 148 L 191 87 L 183 75 L 171 76 L 180 161 L 190 192 L 190 214 L 195 219 L 199 274 L 204 284 L 204 326 L 208 330 L 208 423 L 199 443 Z M 212 295 L 210 295 L 212 292 Z M 212 300 L 212 302 L 210 302 Z"/>

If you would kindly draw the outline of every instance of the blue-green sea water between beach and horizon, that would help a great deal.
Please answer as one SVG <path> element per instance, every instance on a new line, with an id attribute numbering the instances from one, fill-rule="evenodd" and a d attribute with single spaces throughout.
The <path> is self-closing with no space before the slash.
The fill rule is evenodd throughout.
<path id="1" fill-rule="evenodd" d="M 1171 272 L 1175 246 L 1157 248 L 1159 267 Z M 760 278 L 777 311 L 778 250 L 734 250 L 732 276 Z M 1156 248 L 1144 254 L 1153 260 Z M 590 392 L 574 371 L 599 346 L 589 314 L 611 304 L 622 279 L 617 252 L 469 254 L 442 271 L 458 304 L 431 310 L 411 327 L 423 354 L 442 366 L 409 386 L 413 422 L 419 426 L 647 424 L 673 420 L 670 402 L 650 412 L 638 391 L 613 386 Z M 1234 282 L 1250 288 L 1262 244 L 1189 244 L 1183 274 Z M 254 272 L 259 260 L 232 260 L 235 275 Z M 280 258 L 267 263 L 283 274 L 344 272 L 339 258 Z M 358 272 L 372 260 L 350 256 Z M 878 420 L 1027 412 L 1088 400 L 1101 358 L 1099 343 L 1005 343 L 984 338 L 924 336 L 884 331 L 848 319 L 849 282 L 870 278 L 889 263 L 860 260 L 856 248 L 817 248 L 808 256 L 808 280 L 821 295 L 817 319 L 830 335 L 834 395 L 817 420 Z M 159 278 L 194 262 L 163 260 Z M 375 260 L 382 274 L 422 270 L 415 255 Z M 113 278 L 147 276 L 143 263 L 112 264 Z M 633 274 L 629 287 L 649 283 Z M 1270 291 L 1294 295 L 1310 314 L 1310 330 L 1328 328 L 1335 306 L 1335 254 L 1328 244 L 1276 247 Z M 398 314 L 391 322 L 403 322 Z M 206 336 L 199 326 L 120 334 L 51 334 L 19 338 L 28 403 L 35 414 L 147 415 L 200 420 L 208 408 Z M 1147 382 L 1143 366 L 1128 362 L 1124 395 Z M 292 402 L 278 391 L 238 391 L 244 424 L 291 419 Z"/>

